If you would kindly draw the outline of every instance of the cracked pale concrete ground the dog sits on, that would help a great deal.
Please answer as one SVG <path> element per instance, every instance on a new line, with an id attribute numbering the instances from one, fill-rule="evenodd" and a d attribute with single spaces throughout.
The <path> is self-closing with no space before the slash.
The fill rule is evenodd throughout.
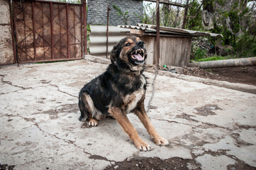
<path id="1" fill-rule="evenodd" d="M 255 169 L 256 94 L 158 75 L 148 115 L 170 145 L 155 145 L 129 114 L 152 147 L 140 152 L 116 120 L 95 128 L 78 120 L 79 90 L 106 67 L 86 60 L 1 67 L 1 168 L 118 169 L 119 162 L 158 157 L 187 161 L 187 169 Z M 154 74 L 145 75 L 147 107 Z"/>

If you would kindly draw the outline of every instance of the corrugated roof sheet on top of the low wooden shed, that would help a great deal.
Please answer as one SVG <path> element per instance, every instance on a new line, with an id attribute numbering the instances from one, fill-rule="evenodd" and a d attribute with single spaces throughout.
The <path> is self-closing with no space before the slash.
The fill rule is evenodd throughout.
<path id="1" fill-rule="evenodd" d="M 157 31 L 157 26 L 149 25 L 144 23 L 137 23 L 136 26 L 118 26 L 120 28 L 130 28 L 136 30 L 145 30 L 147 33 L 155 33 Z M 181 28 L 172 28 L 160 26 L 160 33 L 169 33 L 174 35 L 189 35 L 189 36 L 211 36 L 211 37 L 223 37 L 221 34 L 216 33 L 206 33 L 197 30 L 185 30 Z"/>

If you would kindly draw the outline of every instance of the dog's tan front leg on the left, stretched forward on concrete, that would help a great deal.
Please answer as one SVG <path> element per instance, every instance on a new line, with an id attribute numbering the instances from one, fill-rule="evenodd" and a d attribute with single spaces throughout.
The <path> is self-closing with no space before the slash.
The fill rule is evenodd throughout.
<path id="1" fill-rule="evenodd" d="M 113 115 L 113 118 L 116 118 L 116 121 L 121 125 L 124 132 L 128 134 L 130 140 L 134 142 L 135 146 L 138 149 L 145 151 L 150 149 L 150 145 L 148 145 L 140 138 L 137 130 L 135 130 L 133 125 L 130 123 L 130 120 L 128 120 L 126 113 L 121 111 L 120 108 L 116 107 L 109 108 L 108 112 L 111 113 L 111 115 Z"/>

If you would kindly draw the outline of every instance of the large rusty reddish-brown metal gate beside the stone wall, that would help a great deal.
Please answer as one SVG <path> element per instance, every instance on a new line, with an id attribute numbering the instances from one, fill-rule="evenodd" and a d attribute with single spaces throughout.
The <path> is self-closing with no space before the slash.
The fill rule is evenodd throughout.
<path id="1" fill-rule="evenodd" d="M 14 0 L 13 25 L 19 63 L 81 59 L 87 47 L 86 1 Z"/>

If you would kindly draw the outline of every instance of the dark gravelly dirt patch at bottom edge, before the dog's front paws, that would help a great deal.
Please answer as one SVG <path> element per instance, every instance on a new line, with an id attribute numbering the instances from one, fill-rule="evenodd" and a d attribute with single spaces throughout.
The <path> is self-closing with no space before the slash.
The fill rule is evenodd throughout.
<path id="1" fill-rule="evenodd" d="M 123 162 L 116 162 L 111 166 L 107 166 L 105 170 L 115 170 L 115 169 L 133 169 L 133 170 L 152 170 L 152 169 L 201 169 L 199 164 L 197 164 L 192 159 L 182 159 L 179 157 L 169 158 L 169 159 L 159 159 L 157 157 L 138 157 L 133 159 L 127 159 Z"/>

